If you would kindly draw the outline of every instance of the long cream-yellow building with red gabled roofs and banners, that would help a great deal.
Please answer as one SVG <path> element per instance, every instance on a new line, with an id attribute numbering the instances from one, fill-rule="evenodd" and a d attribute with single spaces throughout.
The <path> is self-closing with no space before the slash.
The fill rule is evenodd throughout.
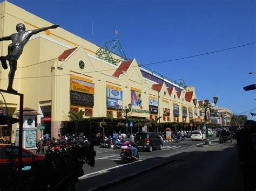
<path id="1" fill-rule="evenodd" d="M 18 23 L 25 24 L 26 30 L 52 25 L 6 1 L 0 4 L 0 11 L 1 37 L 15 33 Z M 133 119 L 161 117 L 160 122 L 187 123 L 203 119 L 192 101 L 196 97 L 194 87 L 183 88 L 153 74 L 136 59 L 117 54 L 109 59 L 102 52 L 106 49 L 60 27 L 29 40 L 18 60 L 13 85 L 24 94 L 24 107 L 42 114 L 36 119 L 37 125 L 44 121 L 52 137 L 58 136 L 63 124 L 66 127 L 71 110 L 84 110 L 85 118 L 122 118 L 125 114 L 119 109 L 131 104 L 129 115 Z M 1 55 L 7 54 L 9 43 L 1 42 Z M 8 72 L 1 67 L 0 89 L 8 86 Z M 8 113 L 17 112 L 18 98 L 4 96 Z M 12 128 L 15 136 L 16 125 Z"/>

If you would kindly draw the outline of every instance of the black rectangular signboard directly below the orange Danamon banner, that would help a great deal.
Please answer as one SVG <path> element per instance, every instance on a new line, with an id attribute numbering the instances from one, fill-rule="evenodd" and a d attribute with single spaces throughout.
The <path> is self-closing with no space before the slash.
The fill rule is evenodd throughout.
<path id="1" fill-rule="evenodd" d="M 94 105 L 94 95 L 70 91 L 70 103 L 79 105 Z"/>

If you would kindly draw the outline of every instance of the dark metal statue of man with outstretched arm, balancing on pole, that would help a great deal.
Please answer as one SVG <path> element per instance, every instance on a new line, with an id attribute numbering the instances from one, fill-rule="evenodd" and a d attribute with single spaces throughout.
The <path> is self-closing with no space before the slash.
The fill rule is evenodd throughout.
<path id="1" fill-rule="evenodd" d="M 8 55 L 1 56 L 1 62 L 4 69 L 7 69 L 7 63 L 6 60 L 9 61 L 10 65 L 10 72 L 9 72 L 9 83 L 7 90 L 10 92 L 17 93 L 16 90 L 12 89 L 12 83 L 14 82 L 14 75 L 15 71 L 17 69 L 17 60 L 19 59 L 19 56 L 21 56 L 22 51 L 26 43 L 28 43 L 29 38 L 33 34 L 37 34 L 39 32 L 48 30 L 48 29 L 56 29 L 59 25 L 52 25 L 48 27 L 42 27 L 41 29 L 26 31 L 26 27 L 24 24 L 19 23 L 16 25 L 17 33 L 11 34 L 8 37 L 1 37 L 0 41 L 3 40 L 11 40 L 12 43 L 8 46 Z"/>

